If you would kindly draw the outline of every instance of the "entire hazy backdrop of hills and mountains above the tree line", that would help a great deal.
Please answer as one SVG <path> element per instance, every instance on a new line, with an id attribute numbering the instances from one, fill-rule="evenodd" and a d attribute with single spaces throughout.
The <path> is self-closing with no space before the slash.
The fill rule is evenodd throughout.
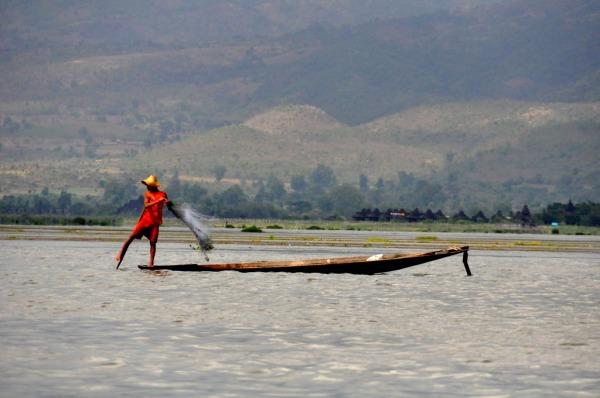
<path id="1" fill-rule="evenodd" d="M 3 192 L 41 189 L 36 163 L 72 187 L 151 156 L 192 177 L 409 172 L 458 203 L 600 197 L 598 1 L 7 1 L 0 18 Z"/>

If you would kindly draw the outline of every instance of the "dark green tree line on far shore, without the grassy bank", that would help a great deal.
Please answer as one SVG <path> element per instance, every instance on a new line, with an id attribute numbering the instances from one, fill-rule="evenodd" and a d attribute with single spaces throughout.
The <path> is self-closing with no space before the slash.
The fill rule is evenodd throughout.
<path id="1" fill-rule="evenodd" d="M 519 211 L 497 209 L 491 215 L 483 210 L 472 210 L 467 215 L 459 207 L 448 211 L 447 216 L 442 210 L 431 210 L 446 203 L 447 194 L 442 187 L 403 172 L 398 173 L 397 181 L 378 179 L 374 184 L 364 175 L 357 184 L 338 183 L 333 170 L 325 165 L 316 166 L 306 175 L 293 175 L 286 183 L 271 175 L 246 184 L 199 184 L 184 181 L 177 173 L 164 182 L 171 200 L 188 203 L 220 218 L 600 225 L 600 204 L 593 202 L 552 203 L 536 213 L 525 205 Z M 133 176 L 106 179 L 99 182 L 99 187 L 103 191 L 101 196 L 77 196 L 67 190 L 53 192 L 48 188 L 4 195 L 0 199 L 0 215 L 10 221 L 23 215 L 89 218 L 140 213 L 139 179 Z"/>

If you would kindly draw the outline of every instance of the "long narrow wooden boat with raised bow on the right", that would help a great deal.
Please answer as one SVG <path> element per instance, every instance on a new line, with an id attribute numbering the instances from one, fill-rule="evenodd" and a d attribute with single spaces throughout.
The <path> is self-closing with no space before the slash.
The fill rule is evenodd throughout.
<path id="1" fill-rule="evenodd" d="M 365 274 L 373 275 L 395 271 L 415 265 L 439 260 L 444 257 L 463 253 L 463 264 L 467 275 L 471 270 L 467 263 L 469 246 L 449 247 L 427 253 L 377 254 L 374 256 L 340 257 L 301 261 L 259 261 L 254 263 L 229 264 L 179 264 L 138 265 L 142 270 L 169 271 L 239 271 L 239 272 L 313 272 L 322 274 Z"/>

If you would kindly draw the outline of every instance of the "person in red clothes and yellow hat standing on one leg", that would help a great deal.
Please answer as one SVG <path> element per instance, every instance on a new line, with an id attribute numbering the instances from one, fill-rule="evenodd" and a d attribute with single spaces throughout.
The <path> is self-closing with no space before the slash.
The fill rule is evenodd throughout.
<path id="1" fill-rule="evenodd" d="M 144 192 L 144 210 L 136 224 L 131 231 L 131 234 L 123 242 L 123 247 L 119 251 L 119 254 L 115 257 L 117 261 L 117 268 L 123 262 L 125 253 L 129 248 L 131 242 L 134 239 L 141 239 L 145 236 L 150 241 L 150 257 L 148 259 L 148 267 L 154 266 L 154 256 L 156 255 L 156 242 L 158 241 L 158 227 L 162 224 L 162 212 L 165 204 L 171 205 L 171 201 L 167 198 L 167 193 L 159 191 L 158 187 L 160 183 L 155 175 L 150 175 L 145 180 L 141 181 L 142 184 L 148 189 Z"/>

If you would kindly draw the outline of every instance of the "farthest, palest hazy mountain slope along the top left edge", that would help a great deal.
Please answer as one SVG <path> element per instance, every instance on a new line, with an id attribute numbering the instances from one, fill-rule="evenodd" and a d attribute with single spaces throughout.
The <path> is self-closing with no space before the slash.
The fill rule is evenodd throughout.
<path id="1" fill-rule="evenodd" d="M 314 24 L 348 25 L 494 0 L 6 0 L 7 54 L 107 55 L 272 37 Z"/>

